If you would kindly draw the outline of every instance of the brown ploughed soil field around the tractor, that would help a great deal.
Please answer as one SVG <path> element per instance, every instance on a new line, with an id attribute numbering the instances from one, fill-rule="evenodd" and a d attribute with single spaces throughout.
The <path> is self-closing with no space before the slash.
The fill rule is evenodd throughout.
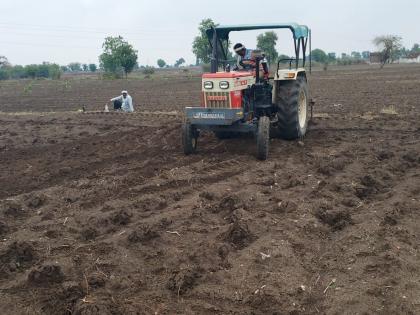
<path id="1" fill-rule="evenodd" d="M 0 82 L 0 313 L 419 314 L 420 67 L 318 71 L 303 141 L 200 138 L 200 79 Z M 136 114 L 102 109 L 128 89 Z"/>

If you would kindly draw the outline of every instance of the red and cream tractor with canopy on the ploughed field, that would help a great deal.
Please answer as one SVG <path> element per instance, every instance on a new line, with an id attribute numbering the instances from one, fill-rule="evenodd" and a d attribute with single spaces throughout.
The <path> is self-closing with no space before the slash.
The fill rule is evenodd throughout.
<path id="1" fill-rule="evenodd" d="M 263 54 L 255 56 L 253 70 L 232 71 L 227 60 L 230 32 L 260 29 L 291 30 L 295 58 L 278 60 L 274 76 L 268 78 L 260 74 Z M 203 130 L 214 132 L 219 139 L 254 134 L 259 160 L 268 157 L 270 136 L 286 140 L 302 138 L 312 105 L 305 70 L 306 51 L 311 46 L 309 28 L 296 23 L 217 26 L 206 34 L 212 49 L 211 71 L 202 75 L 201 106 L 185 108 L 184 153 L 196 152 Z M 288 64 L 285 69 L 281 67 L 284 63 Z"/>

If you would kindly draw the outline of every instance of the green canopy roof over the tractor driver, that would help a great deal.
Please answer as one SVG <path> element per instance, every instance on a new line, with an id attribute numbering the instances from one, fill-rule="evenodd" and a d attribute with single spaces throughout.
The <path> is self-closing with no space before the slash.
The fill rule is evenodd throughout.
<path id="1" fill-rule="evenodd" d="M 215 28 L 217 37 L 221 40 L 227 40 L 230 32 L 239 31 L 253 31 L 263 29 L 280 29 L 288 28 L 292 31 L 294 39 L 308 37 L 309 28 L 306 25 L 299 25 L 297 23 L 284 23 L 284 24 L 246 24 L 246 25 L 222 25 Z M 213 38 L 214 29 L 210 28 L 206 31 L 207 37 L 211 41 Z"/>

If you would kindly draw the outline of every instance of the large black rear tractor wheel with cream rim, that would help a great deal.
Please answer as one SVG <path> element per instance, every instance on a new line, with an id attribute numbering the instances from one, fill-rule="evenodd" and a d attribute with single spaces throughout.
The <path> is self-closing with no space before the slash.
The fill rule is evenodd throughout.
<path id="1" fill-rule="evenodd" d="M 277 134 L 285 140 L 299 139 L 308 129 L 309 94 L 306 79 L 282 81 L 277 89 Z"/>

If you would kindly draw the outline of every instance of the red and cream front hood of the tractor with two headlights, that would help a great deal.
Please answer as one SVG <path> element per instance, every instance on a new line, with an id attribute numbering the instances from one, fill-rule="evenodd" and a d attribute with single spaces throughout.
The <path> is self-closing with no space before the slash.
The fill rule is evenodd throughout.
<path id="1" fill-rule="evenodd" d="M 244 91 L 255 84 L 252 72 L 217 72 L 203 74 L 202 102 L 205 108 L 238 109 L 244 104 Z"/>

